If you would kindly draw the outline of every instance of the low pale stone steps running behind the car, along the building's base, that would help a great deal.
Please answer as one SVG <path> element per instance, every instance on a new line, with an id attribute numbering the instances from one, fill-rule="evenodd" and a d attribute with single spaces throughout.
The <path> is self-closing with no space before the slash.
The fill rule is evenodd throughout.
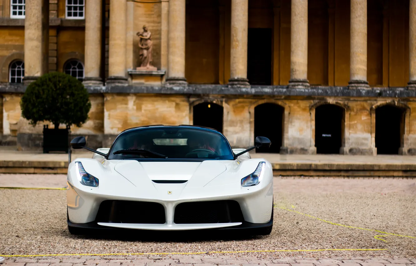
<path id="1" fill-rule="evenodd" d="M 93 153 L 75 150 L 72 161 L 92 158 Z M 250 153 L 272 163 L 275 176 L 416 177 L 416 157 L 398 155 L 280 155 Z M 68 154 L 16 151 L 0 147 L 0 173 L 59 173 L 68 170 Z"/>

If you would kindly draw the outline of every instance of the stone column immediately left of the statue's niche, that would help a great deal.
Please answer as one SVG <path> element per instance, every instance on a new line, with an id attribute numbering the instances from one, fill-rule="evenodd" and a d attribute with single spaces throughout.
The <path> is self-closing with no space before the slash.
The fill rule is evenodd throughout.
<path id="1" fill-rule="evenodd" d="M 126 0 L 110 0 L 109 77 L 107 83 L 127 83 Z"/>

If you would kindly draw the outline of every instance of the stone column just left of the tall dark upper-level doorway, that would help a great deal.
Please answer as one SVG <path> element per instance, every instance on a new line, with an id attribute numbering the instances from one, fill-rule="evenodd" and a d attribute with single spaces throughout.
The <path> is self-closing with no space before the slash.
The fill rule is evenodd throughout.
<path id="1" fill-rule="evenodd" d="M 231 0 L 231 57 L 228 85 L 250 86 L 247 79 L 247 35 L 248 0 Z"/>

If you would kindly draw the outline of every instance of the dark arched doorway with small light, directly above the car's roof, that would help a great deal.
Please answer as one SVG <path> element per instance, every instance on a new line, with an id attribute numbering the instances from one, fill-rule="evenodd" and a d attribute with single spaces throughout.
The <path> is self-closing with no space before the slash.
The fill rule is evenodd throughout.
<path id="1" fill-rule="evenodd" d="M 224 108 L 215 103 L 200 103 L 193 107 L 193 125 L 214 128 L 223 132 Z"/>

